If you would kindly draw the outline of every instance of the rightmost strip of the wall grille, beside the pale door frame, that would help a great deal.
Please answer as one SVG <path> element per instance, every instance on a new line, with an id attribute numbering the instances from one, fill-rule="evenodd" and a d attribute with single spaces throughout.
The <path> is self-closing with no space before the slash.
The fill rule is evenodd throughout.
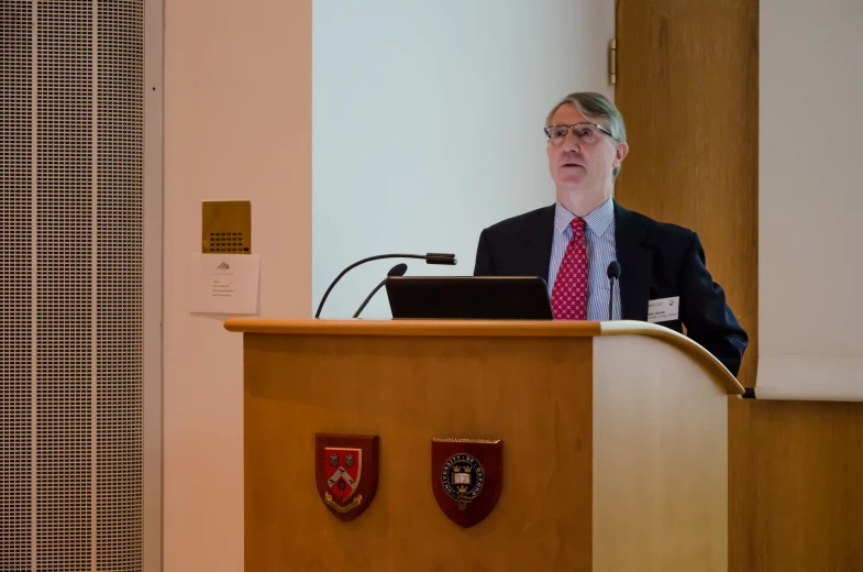
<path id="1" fill-rule="evenodd" d="M 99 4 L 97 565 L 143 550 L 143 0 Z"/>

